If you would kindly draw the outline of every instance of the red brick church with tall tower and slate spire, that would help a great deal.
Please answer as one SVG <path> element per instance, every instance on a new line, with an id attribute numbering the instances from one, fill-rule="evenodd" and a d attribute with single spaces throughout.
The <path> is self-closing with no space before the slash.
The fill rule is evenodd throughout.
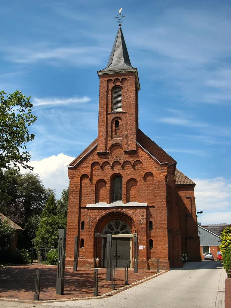
<path id="1" fill-rule="evenodd" d="M 139 129 L 139 76 L 121 25 L 98 76 L 98 137 L 68 166 L 66 266 L 78 236 L 78 267 L 106 267 L 108 234 L 116 267 L 133 267 L 134 237 L 138 269 L 156 269 L 157 258 L 160 269 L 181 267 L 182 253 L 201 261 L 196 184 Z"/>

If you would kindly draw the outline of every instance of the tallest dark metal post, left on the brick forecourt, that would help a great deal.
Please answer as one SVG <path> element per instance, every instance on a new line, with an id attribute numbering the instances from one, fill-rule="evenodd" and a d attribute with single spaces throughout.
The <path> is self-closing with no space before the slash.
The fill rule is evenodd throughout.
<path id="1" fill-rule="evenodd" d="M 56 294 L 63 295 L 67 229 L 59 229 Z"/>

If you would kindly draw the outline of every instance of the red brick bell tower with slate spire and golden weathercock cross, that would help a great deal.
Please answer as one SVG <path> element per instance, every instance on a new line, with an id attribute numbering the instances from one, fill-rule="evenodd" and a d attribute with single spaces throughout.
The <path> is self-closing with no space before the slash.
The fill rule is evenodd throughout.
<path id="1" fill-rule="evenodd" d="M 137 68 L 132 67 L 129 59 L 121 23 L 107 67 L 97 73 L 99 75 L 97 153 L 107 155 L 112 144 L 120 144 L 125 153 L 136 153 L 140 83 Z"/>

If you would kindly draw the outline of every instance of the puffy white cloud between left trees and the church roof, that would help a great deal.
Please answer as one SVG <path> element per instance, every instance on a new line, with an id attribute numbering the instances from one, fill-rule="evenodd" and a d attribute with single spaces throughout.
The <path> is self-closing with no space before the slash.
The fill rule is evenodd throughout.
<path id="1" fill-rule="evenodd" d="M 30 166 L 34 167 L 34 173 L 39 174 L 43 185 L 46 188 L 55 189 L 57 198 L 60 198 L 62 190 L 69 186 L 67 165 L 74 159 L 75 157 L 60 153 L 57 156 L 53 155 L 40 161 L 32 160 Z"/>

